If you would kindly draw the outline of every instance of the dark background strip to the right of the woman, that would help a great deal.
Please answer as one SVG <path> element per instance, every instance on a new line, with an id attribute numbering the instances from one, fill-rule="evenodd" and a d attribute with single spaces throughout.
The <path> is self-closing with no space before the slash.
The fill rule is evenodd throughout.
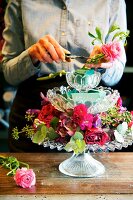
<path id="1" fill-rule="evenodd" d="M 122 98 L 123 104 L 129 110 L 133 110 L 133 1 L 125 0 L 127 7 L 127 28 L 130 30 L 130 36 L 127 38 L 126 55 L 127 63 L 126 68 L 130 69 L 130 72 L 125 72 L 120 82 L 113 87 L 118 89 Z"/>

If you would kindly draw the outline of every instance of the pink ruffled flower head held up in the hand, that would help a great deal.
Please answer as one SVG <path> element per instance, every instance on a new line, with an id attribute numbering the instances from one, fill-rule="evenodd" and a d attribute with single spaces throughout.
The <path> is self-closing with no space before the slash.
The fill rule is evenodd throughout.
<path id="1" fill-rule="evenodd" d="M 103 44 L 101 49 L 107 61 L 112 62 L 121 56 L 121 46 L 119 42 L 115 41 L 108 44 Z"/>

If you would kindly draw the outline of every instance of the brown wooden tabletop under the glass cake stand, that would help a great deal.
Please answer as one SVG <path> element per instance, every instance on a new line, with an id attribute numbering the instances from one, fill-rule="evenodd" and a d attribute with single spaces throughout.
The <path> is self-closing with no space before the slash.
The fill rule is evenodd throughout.
<path id="1" fill-rule="evenodd" d="M 27 162 L 36 173 L 36 186 L 18 187 L 7 170 L 0 168 L 0 199 L 2 200 L 133 200 L 133 153 L 99 153 L 106 172 L 96 178 L 73 178 L 58 170 L 69 153 L 1 153 Z"/>

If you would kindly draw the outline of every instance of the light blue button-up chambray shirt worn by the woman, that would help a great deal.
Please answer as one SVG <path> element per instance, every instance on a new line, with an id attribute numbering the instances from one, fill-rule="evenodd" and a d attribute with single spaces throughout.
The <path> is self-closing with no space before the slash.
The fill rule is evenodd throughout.
<path id="1" fill-rule="evenodd" d="M 76 60 L 71 63 L 40 63 L 36 67 L 27 49 L 41 37 L 50 34 L 72 54 L 89 56 L 93 46 L 88 32 L 95 34 L 98 26 L 105 38 L 114 22 L 122 31 L 126 31 L 124 0 L 10 0 L 3 32 L 5 79 L 12 85 L 18 85 L 35 74 L 42 76 L 62 69 L 71 71 L 82 67 L 83 63 Z M 118 83 L 122 77 L 126 62 L 123 45 L 122 49 L 121 58 L 102 75 L 102 81 L 107 86 Z"/>

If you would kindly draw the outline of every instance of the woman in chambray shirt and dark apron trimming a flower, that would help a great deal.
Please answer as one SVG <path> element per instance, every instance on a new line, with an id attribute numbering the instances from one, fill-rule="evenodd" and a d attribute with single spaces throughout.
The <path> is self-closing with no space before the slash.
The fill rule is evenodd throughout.
<path id="1" fill-rule="evenodd" d="M 70 71 L 83 65 L 66 62 L 65 53 L 89 56 L 92 51 L 88 31 L 96 26 L 103 30 L 104 39 L 109 27 L 117 23 L 126 31 L 124 0 L 10 0 L 5 13 L 3 72 L 5 79 L 18 87 L 10 112 L 9 146 L 11 151 L 46 151 L 24 135 L 15 141 L 12 129 L 25 125 L 25 112 L 40 107 L 40 92 L 65 85 L 65 77 L 37 81 L 37 77 L 62 69 Z M 109 40 L 109 38 L 108 38 Z M 126 56 L 119 61 L 102 63 L 104 85 L 118 83 L 123 74 Z M 91 66 L 95 67 L 95 66 Z"/>

